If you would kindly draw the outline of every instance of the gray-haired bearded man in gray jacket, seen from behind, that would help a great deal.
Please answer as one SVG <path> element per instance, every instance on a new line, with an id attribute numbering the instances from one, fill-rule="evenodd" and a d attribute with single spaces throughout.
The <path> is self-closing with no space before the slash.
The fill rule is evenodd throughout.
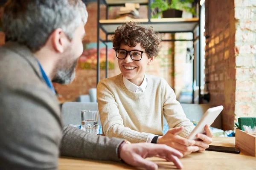
<path id="1" fill-rule="evenodd" d="M 75 78 L 87 11 L 81 0 L 9 0 L 6 44 L 0 47 L 0 169 L 55 170 L 58 156 L 124 161 L 157 169 L 160 156 L 182 168 L 182 154 L 166 145 L 128 144 L 62 127 L 53 82 Z"/>

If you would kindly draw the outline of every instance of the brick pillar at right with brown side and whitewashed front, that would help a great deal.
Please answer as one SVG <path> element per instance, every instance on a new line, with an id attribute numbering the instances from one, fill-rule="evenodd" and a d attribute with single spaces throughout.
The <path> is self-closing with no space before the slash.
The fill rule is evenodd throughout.
<path id="1" fill-rule="evenodd" d="M 238 117 L 256 115 L 255 1 L 206 0 L 205 7 L 210 103 L 224 106 L 223 129 L 233 129 Z"/>

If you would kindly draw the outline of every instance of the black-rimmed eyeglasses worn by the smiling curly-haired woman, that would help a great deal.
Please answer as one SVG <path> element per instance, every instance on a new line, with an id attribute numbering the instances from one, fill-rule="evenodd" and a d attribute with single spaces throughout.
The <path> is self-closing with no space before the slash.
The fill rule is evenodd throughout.
<path id="1" fill-rule="evenodd" d="M 130 53 L 131 59 L 134 61 L 140 61 L 142 58 L 142 54 L 147 51 L 139 51 L 139 50 L 131 50 L 126 51 L 125 49 L 114 49 L 116 51 L 116 57 L 118 59 L 125 59 L 127 57 L 127 53 Z"/>

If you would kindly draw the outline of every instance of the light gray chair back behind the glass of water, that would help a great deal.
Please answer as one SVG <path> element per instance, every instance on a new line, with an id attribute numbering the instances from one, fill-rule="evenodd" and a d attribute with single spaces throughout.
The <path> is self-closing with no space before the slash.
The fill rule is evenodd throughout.
<path id="1" fill-rule="evenodd" d="M 74 124 L 81 125 L 81 111 L 96 110 L 98 111 L 97 102 L 64 102 L 61 107 L 62 120 L 64 125 Z M 100 119 L 98 125 L 101 125 Z"/>

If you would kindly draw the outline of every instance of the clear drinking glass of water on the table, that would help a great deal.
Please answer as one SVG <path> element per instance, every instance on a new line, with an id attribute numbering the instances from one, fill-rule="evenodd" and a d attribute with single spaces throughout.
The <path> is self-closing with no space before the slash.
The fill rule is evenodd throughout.
<path id="1" fill-rule="evenodd" d="M 84 110 L 81 111 L 82 125 L 81 130 L 88 133 L 97 134 L 99 111 Z"/>

